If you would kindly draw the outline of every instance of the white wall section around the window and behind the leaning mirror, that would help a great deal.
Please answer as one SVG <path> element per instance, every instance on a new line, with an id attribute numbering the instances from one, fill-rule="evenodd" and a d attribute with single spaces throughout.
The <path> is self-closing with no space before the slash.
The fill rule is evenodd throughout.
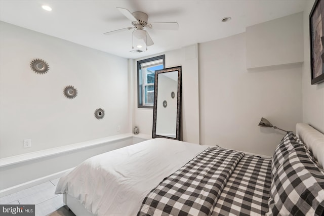
<path id="1" fill-rule="evenodd" d="M 198 56 L 197 45 L 184 47 L 159 55 L 166 55 L 166 68 L 182 66 L 182 140 L 199 143 L 199 98 L 198 98 Z M 137 108 L 137 61 L 153 56 L 136 59 L 133 71 L 133 126 L 140 133 L 152 135 L 153 109 Z"/>

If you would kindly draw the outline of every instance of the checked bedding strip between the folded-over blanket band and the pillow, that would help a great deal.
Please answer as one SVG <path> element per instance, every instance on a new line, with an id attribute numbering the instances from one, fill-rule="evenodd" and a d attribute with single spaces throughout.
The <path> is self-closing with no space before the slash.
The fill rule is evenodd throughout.
<path id="1" fill-rule="evenodd" d="M 271 158 L 245 155 L 228 179 L 212 215 L 264 215 L 268 211 Z"/>

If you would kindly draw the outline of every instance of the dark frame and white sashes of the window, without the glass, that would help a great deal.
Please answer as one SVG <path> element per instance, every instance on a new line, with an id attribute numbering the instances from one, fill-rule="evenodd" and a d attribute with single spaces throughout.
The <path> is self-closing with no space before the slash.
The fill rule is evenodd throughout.
<path id="1" fill-rule="evenodd" d="M 150 84 L 144 85 L 143 80 L 140 80 L 140 77 L 142 77 L 142 79 L 143 79 L 143 74 L 142 74 L 142 72 L 140 72 L 141 64 L 156 61 L 156 60 L 160 60 L 160 59 L 163 62 L 163 69 L 165 69 L 166 68 L 166 55 L 155 56 L 155 57 L 152 57 L 152 58 L 137 61 L 137 108 L 150 108 L 150 109 L 153 109 L 153 107 L 154 107 L 154 104 L 152 104 L 152 105 L 144 105 L 145 103 L 143 103 L 144 102 L 144 97 L 143 96 L 144 96 L 145 86 L 154 85 L 155 83 L 153 83 L 153 84 L 150 83 Z M 141 88 L 140 88 L 140 81 L 142 81 L 142 87 Z M 155 80 L 154 80 L 154 82 L 155 82 Z"/>

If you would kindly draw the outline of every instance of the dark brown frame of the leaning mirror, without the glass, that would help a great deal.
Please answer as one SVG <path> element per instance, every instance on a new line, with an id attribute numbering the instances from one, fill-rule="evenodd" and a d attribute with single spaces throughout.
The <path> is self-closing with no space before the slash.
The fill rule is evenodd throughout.
<path id="1" fill-rule="evenodd" d="M 166 137 L 156 134 L 156 111 L 157 111 L 157 91 L 158 91 L 158 74 L 167 73 L 172 71 L 178 71 L 178 92 L 177 92 L 177 128 L 176 128 L 176 137 Z M 155 80 L 154 80 L 154 106 L 153 106 L 153 130 L 152 138 L 168 138 L 173 140 L 180 140 L 180 129 L 181 129 L 181 66 L 171 67 L 155 71 Z"/>

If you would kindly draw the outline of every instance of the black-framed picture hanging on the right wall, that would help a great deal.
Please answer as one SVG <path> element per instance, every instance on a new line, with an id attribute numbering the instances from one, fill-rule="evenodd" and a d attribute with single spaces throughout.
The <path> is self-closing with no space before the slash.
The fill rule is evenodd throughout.
<path id="1" fill-rule="evenodd" d="M 324 81 L 324 0 L 316 0 L 309 14 L 311 84 Z"/>

